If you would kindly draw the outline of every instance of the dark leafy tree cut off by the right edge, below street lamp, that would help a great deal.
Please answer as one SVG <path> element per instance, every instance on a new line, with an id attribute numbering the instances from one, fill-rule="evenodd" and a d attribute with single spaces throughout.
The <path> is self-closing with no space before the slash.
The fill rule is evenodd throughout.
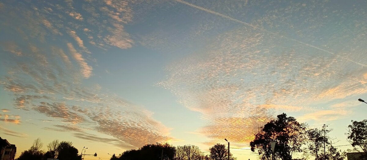
<path id="1" fill-rule="evenodd" d="M 367 119 L 363 121 L 353 121 L 348 126 L 348 141 L 353 146 L 354 151 L 364 152 L 363 158 L 367 158 Z"/>

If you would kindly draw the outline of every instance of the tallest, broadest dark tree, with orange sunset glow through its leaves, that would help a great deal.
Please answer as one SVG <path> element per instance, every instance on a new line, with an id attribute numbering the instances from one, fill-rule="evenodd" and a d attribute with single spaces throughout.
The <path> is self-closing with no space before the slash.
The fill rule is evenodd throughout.
<path id="1" fill-rule="evenodd" d="M 274 158 L 291 160 L 293 152 L 302 152 L 301 146 L 306 139 L 305 123 L 299 123 L 294 117 L 287 117 L 283 113 L 260 127 L 255 139 L 250 142 L 251 151 L 258 149 L 258 154 L 262 160 L 270 160 L 272 150 L 270 142 L 275 141 Z"/>

